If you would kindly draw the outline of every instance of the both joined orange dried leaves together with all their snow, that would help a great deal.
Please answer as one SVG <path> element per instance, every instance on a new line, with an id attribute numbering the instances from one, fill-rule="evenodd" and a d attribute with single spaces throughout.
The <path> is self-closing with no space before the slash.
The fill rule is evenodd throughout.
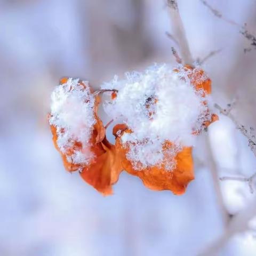
<path id="1" fill-rule="evenodd" d="M 122 170 L 150 189 L 185 193 L 194 179 L 196 135 L 218 119 L 209 107 L 210 78 L 199 68 L 155 65 L 101 88 L 111 93 L 103 106 L 111 122 L 123 122 L 113 128 L 115 145 L 98 116 L 99 93 L 88 82 L 62 78 L 52 93 L 49 123 L 66 169 L 79 171 L 103 195 L 112 194 Z"/>

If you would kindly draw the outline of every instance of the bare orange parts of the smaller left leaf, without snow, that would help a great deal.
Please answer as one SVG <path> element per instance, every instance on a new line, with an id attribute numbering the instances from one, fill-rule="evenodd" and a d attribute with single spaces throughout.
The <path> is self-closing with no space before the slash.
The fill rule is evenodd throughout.
<path id="1" fill-rule="evenodd" d="M 60 84 L 67 83 L 68 78 L 62 78 Z M 83 82 L 79 81 L 84 87 L 87 86 Z M 92 93 L 92 90 L 90 88 Z M 119 158 L 116 157 L 115 146 L 111 145 L 105 137 L 105 127 L 101 119 L 99 118 L 97 111 L 100 103 L 99 95 L 94 96 L 94 118 L 95 124 L 93 125 L 93 131 L 91 138 L 88 144 L 88 147 L 85 149 L 82 146 L 80 141 L 72 141 L 71 146 L 65 148 L 65 152 L 59 149 L 57 140 L 58 133 L 57 127 L 51 125 L 51 131 L 53 134 L 53 143 L 55 148 L 59 151 L 63 165 L 65 169 L 69 172 L 78 171 L 81 174 L 83 180 L 97 189 L 103 195 L 112 194 L 111 185 L 117 182 L 119 174 L 122 171 L 122 165 L 119 161 Z M 51 115 L 48 116 L 50 118 Z M 59 131 L 59 133 L 65 133 L 65 129 Z M 73 160 L 70 161 L 71 156 L 75 152 L 81 154 L 86 151 L 90 151 L 93 154 L 93 159 L 88 164 L 76 164 Z"/>

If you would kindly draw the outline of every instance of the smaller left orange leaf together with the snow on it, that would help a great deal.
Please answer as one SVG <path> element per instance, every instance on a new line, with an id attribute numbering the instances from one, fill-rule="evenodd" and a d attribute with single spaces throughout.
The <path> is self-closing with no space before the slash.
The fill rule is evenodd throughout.
<path id="1" fill-rule="evenodd" d="M 79 171 L 83 180 L 110 195 L 122 166 L 115 146 L 105 137 L 97 114 L 99 103 L 99 95 L 93 94 L 88 82 L 62 78 L 52 93 L 49 123 L 66 170 Z"/>

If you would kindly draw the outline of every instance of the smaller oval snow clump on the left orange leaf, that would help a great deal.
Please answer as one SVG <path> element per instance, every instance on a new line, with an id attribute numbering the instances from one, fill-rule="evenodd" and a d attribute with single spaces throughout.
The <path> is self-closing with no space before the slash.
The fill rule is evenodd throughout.
<path id="1" fill-rule="evenodd" d="M 74 150 L 67 160 L 75 164 L 87 164 L 93 158 L 90 151 L 90 138 L 94 118 L 94 97 L 89 83 L 69 78 L 64 84 L 55 87 L 51 95 L 50 124 L 57 128 L 57 145 L 65 154 L 79 142 L 82 148 Z"/>

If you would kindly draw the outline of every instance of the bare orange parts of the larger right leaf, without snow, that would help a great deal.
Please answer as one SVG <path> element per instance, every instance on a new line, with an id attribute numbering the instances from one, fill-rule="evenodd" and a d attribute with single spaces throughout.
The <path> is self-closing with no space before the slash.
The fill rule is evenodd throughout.
<path id="1" fill-rule="evenodd" d="M 180 72 L 179 69 L 175 71 Z M 206 94 L 211 93 L 211 79 L 207 77 L 202 69 L 194 69 L 190 66 L 185 66 L 182 71 L 187 73 L 191 84 L 195 86 L 197 91 L 202 93 L 205 97 Z M 206 101 L 203 104 L 206 105 Z M 206 111 L 206 115 L 210 114 L 210 110 Z M 212 122 L 217 121 L 218 116 L 211 115 L 211 119 L 202 125 L 202 129 L 209 126 Z M 173 158 L 167 154 L 168 148 L 172 147 L 172 143 L 166 141 L 163 146 L 164 159 L 163 163 L 168 161 L 176 162 L 175 167 L 170 171 L 166 170 L 164 164 L 162 166 L 149 166 L 142 170 L 135 170 L 132 162 L 127 159 L 129 153 L 129 145 L 123 145 L 121 142 L 122 134 L 124 132 L 131 133 L 126 125 L 118 124 L 113 128 L 113 134 L 116 136 L 116 151 L 121 158 L 124 170 L 132 175 L 138 176 L 144 185 L 153 190 L 171 190 L 174 194 L 180 195 L 185 193 L 188 183 L 194 179 L 194 167 L 192 158 L 192 147 L 183 147 L 181 151 Z M 193 134 L 199 134 L 200 130 L 194 131 Z"/>

